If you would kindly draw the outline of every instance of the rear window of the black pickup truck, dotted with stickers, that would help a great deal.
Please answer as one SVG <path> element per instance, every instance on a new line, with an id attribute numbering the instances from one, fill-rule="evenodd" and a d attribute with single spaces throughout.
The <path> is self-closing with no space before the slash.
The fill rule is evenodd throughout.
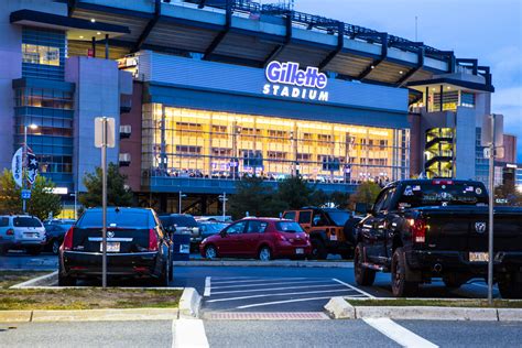
<path id="1" fill-rule="evenodd" d="M 400 208 L 415 208 L 424 206 L 471 205 L 488 204 L 488 194 L 483 185 L 453 183 L 422 183 L 404 187 L 399 199 Z"/>

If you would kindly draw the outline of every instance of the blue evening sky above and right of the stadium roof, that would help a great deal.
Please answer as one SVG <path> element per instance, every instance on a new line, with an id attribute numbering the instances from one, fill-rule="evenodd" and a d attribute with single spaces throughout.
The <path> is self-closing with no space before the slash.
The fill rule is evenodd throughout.
<path id="1" fill-rule="evenodd" d="M 276 2 L 264 0 L 263 3 Z M 295 10 L 415 40 L 491 67 L 492 112 L 522 162 L 522 0 L 295 0 Z"/>

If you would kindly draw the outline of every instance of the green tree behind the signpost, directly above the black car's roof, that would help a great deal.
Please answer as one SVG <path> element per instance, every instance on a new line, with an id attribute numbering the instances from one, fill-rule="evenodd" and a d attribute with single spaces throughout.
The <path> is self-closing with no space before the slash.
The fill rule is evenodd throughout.
<path id="1" fill-rule="evenodd" d="M 107 170 L 107 205 L 115 207 L 132 206 L 132 191 L 126 187 L 127 175 L 119 172 L 118 165 L 109 163 Z M 87 192 L 79 196 L 79 203 L 87 208 L 101 206 L 101 167 L 84 176 Z"/>

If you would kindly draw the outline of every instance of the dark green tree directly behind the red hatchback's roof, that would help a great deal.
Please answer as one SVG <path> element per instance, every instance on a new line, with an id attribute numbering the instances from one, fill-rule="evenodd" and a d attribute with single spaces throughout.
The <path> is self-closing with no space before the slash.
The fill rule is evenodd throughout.
<path id="1" fill-rule="evenodd" d="M 235 218 L 242 218 L 247 211 L 251 216 L 273 216 L 273 192 L 261 177 L 244 177 L 236 182 L 236 194 L 229 198 L 228 211 Z"/>

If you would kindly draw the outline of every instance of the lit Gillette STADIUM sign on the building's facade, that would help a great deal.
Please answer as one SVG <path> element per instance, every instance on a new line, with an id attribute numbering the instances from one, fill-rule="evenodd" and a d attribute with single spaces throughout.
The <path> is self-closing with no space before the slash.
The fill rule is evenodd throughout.
<path id="1" fill-rule="evenodd" d="M 301 69 L 298 63 L 276 61 L 267 65 L 264 75 L 270 84 L 263 86 L 263 95 L 301 100 L 328 101 L 328 77 L 316 67 Z"/>

